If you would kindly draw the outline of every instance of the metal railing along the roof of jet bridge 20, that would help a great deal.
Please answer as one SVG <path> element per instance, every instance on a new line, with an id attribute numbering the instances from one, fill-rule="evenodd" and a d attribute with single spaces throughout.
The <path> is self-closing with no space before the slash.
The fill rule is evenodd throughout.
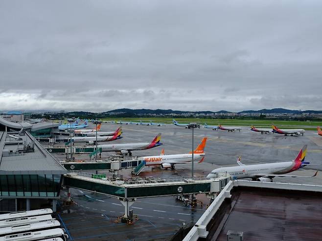
<path id="1" fill-rule="evenodd" d="M 113 184 L 149 184 L 149 183 L 168 183 L 168 182 L 194 182 L 194 181 L 204 181 L 209 180 L 207 176 L 172 176 L 172 177 L 134 177 L 134 178 L 121 178 L 114 176 L 106 176 L 105 174 L 94 174 L 90 172 L 81 172 L 81 171 L 70 171 L 70 174 L 76 174 L 77 176 L 83 176 L 87 178 L 92 178 L 95 180 L 100 180 L 106 183 Z M 219 174 L 218 177 L 227 177 L 225 173 Z"/>

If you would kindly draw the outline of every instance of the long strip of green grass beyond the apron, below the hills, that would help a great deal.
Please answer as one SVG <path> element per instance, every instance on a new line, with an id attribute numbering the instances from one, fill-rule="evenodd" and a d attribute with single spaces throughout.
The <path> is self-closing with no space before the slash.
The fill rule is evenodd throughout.
<path id="1" fill-rule="evenodd" d="M 284 120 L 241 120 L 241 119 L 204 119 L 204 118 L 175 118 L 179 123 L 189 123 L 197 122 L 204 125 L 206 122 L 207 125 L 218 125 L 223 126 L 249 126 L 254 125 L 255 127 L 268 127 L 274 123 L 277 127 L 280 128 L 301 128 L 308 131 L 317 130 L 317 126 L 322 126 L 322 121 L 284 121 Z M 163 117 L 148 117 L 148 118 L 104 118 L 102 120 L 106 121 L 143 121 L 156 123 L 172 123 L 172 118 L 163 118 Z"/>

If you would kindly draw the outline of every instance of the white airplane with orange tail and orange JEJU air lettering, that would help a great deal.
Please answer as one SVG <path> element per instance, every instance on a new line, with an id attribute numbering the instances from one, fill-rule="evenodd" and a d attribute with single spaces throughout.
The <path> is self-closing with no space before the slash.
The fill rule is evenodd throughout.
<path id="1" fill-rule="evenodd" d="M 199 163 L 204 161 L 205 153 L 204 149 L 206 146 L 207 137 L 205 137 L 198 147 L 193 152 L 193 160 L 198 161 Z M 153 156 L 142 156 L 145 161 L 145 166 L 156 166 L 159 165 L 162 168 L 175 168 L 175 164 L 179 163 L 188 163 L 192 161 L 192 152 L 186 154 L 173 154 L 173 155 L 164 155 L 164 149 L 162 149 L 161 155 Z"/>

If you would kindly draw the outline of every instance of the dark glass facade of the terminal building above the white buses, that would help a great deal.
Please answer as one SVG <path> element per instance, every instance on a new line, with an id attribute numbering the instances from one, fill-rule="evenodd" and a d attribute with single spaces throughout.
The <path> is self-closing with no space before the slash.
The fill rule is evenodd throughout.
<path id="1" fill-rule="evenodd" d="M 0 197 L 58 197 L 62 175 L 0 175 Z"/>

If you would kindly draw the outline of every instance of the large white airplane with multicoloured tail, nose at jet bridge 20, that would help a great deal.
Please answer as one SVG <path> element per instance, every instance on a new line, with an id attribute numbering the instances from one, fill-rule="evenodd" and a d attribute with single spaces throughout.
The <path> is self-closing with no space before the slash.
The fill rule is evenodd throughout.
<path id="1" fill-rule="evenodd" d="M 309 162 L 304 161 L 307 146 L 305 145 L 300 151 L 298 156 L 293 161 L 276 162 L 276 163 L 265 163 L 265 164 L 254 164 L 244 165 L 241 163 L 241 157 L 238 157 L 238 166 L 232 167 L 221 167 L 212 170 L 207 178 L 215 178 L 219 173 L 228 173 L 235 179 L 239 178 L 252 178 L 254 181 L 267 181 L 272 182 L 276 176 L 290 176 L 290 177 L 313 177 L 316 176 L 316 172 L 312 176 L 297 176 L 297 175 L 284 175 L 293 171 L 299 170 L 306 165 L 310 165 Z M 311 164 L 312 165 L 312 164 Z"/>

